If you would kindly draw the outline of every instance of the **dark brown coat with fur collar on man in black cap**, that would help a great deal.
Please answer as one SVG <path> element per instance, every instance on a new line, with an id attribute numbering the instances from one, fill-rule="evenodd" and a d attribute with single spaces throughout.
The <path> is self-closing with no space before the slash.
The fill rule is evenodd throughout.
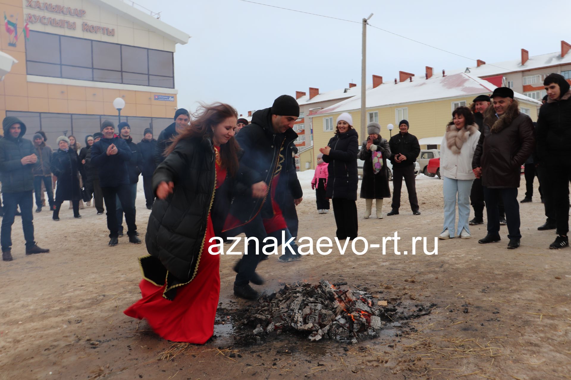
<path id="1" fill-rule="evenodd" d="M 494 108 L 488 107 L 472 169 L 482 168 L 482 186 L 493 189 L 520 187 L 520 168 L 533 153 L 534 145 L 532 120 L 520 112 L 517 100 L 499 119 Z"/>

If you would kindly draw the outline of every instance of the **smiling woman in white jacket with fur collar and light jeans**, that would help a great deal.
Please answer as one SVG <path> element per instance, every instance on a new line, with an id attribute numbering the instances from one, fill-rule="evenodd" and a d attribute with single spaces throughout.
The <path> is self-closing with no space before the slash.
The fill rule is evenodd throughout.
<path id="1" fill-rule="evenodd" d="M 452 112 L 452 118 L 446 126 L 446 133 L 440 144 L 440 174 L 444 179 L 444 228 L 439 237 L 455 237 L 457 198 L 457 234 L 462 239 L 469 239 L 470 191 L 476 178 L 472 171 L 472 158 L 480 132 L 474 121 L 474 114 L 468 107 L 456 108 Z"/>

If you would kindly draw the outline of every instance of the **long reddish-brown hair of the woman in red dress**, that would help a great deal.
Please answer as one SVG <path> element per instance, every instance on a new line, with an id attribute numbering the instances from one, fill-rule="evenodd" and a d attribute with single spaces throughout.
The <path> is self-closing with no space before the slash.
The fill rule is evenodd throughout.
<path id="1" fill-rule="evenodd" d="M 172 138 L 172 144 L 164 151 L 164 156 L 168 156 L 175 148 L 180 140 L 191 137 L 210 138 L 212 140 L 212 128 L 220 124 L 228 117 L 238 117 L 238 112 L 229 104 L 214 103 L 200 104 L 199 109 L 192 114 L 190 123 L 182 132 Z M 238 151 L 240 145 L 234 137 L 226 144 L 220 146 L 220 160 L 222 166 L 226 168 L 228 174 L 232 177 L 238 172 Z"/>

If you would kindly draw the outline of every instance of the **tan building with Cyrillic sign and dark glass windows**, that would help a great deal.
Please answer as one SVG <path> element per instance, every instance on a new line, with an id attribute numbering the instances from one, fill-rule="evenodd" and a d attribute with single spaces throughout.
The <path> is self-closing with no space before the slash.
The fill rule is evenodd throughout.
<path id="1" fill-rule="evenodd" d="M 26 137 L 48 144 L 73 134 L 80 144 L 103 120 L 122 121 L 135 141 L 155 137 L 177 108 L 174 52 L 190 36 L 119 0 L 0 0 L 2 52 L 17 63 L 0 81 L 0 117 L 16 116 Z"/>

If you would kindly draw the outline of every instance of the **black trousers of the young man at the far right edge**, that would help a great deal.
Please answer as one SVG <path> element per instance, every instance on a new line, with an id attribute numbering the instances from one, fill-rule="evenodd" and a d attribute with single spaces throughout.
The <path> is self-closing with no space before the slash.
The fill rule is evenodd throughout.
<path id="1" fill-rule="evenodd" d="M 569 181 L 571 167 L 565 165 L 549 165 L 547 168 L 548 187 L 553 195 L 557 234 L 567 235 L 569 232 Z"/>

